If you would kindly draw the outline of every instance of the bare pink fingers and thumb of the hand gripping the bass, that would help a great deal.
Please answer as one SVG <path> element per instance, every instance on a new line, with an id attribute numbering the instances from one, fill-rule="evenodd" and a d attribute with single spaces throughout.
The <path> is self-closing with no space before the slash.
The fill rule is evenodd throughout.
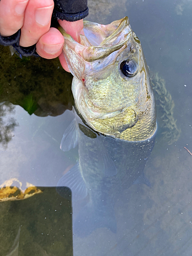
<path id="1" fill-rule="evenodd" d="M 36 44 L 36 52 L 43 58 L 59 56 L 63 69 L 70 72 L 62 54 L 64 38 L 56 28 L 50 28 L 54 8 L 53 0 L 1 0 L 0 33 L 10 36 L 21 29 L 19 45 L 29 47 Z M 76 41 L 83 30 L 83 20 L 59 25 Z"/>

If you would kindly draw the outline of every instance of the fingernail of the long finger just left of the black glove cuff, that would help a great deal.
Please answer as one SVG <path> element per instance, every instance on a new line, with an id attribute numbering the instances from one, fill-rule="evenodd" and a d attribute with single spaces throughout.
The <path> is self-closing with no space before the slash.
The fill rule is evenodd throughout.
<path id="1" fill-rule="evenodd" d="M 52 16 L 53 6 L 39 8 L 35 11 L 35 20 L 38 24 L 48 25 Z"/>

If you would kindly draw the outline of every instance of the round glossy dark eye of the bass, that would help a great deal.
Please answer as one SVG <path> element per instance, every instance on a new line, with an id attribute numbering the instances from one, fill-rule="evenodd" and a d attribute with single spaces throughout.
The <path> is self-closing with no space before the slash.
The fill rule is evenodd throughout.
<path id="1" fill-rule="evenodd" d="M 138 72 L 138 65 L 133 59 L 128 59 L 121 62 L 120 69 L 126 77 L 133 77 Z"/>

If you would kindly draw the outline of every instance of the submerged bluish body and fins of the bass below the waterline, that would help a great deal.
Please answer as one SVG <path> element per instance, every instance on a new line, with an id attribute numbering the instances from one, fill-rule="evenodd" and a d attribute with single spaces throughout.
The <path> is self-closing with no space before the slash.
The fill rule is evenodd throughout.
<path id="1" fill-rule="evenodd" d="M 61 150 L 68 151 L 78 144 L 79 161 L 61 177 L 57 192 L 62 196 L 65 195 L 62 186 L 71 188 L 74 211 L 78 202 L 82 205 L 86 202 L 73 220 L 77 236 L 88 236 L 100 227 L 117 231 L 114 204 L 122 191 L 135 184 L 151 186 L 143 170 L 154 142 L 155 136 L 143 141 L 103 136 L 75 114 L 63 134 Z"/>

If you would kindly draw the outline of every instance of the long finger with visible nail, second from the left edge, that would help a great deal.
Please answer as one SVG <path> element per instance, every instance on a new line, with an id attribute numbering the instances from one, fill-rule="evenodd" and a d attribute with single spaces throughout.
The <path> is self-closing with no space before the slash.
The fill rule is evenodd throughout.
<path id="1" fill-rule="evenodd" d="M 36 44 L 39 38 L 49 31 L 53 8 L 53 0 L 29 0 L 21 30 L 20 46 Z"/>

